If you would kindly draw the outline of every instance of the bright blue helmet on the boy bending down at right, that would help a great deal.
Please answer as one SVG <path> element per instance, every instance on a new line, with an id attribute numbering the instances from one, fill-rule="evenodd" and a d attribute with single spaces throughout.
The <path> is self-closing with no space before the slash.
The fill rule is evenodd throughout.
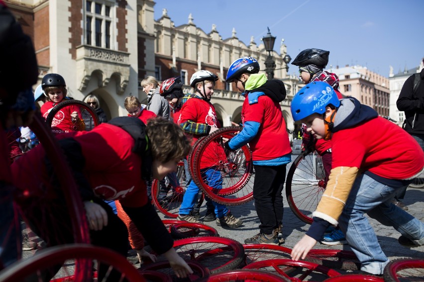
<path id="1" fill-rule="evenodd" d="M 306 84 L 293 97 L 290 110 L 293 120 L 300 121 L 310 115 L 325 113 L 325 107 L 340 106 L 340 101 L 333 88 L 326 82 L 314 81 Z"/>

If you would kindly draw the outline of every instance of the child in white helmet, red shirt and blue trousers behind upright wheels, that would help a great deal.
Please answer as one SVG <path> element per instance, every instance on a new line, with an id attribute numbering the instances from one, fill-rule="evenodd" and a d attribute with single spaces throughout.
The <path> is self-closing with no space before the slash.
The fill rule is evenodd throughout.
<path id="1" fill-rule="evenodd" d="M 215 81 L 217 79 L 218 77 L 209 70 L 197 71 L 190 79 L 190 85 L 195 90 L 195 96 L 188 99 L 182 106 L 181 114 L 178 118 L 178 124 L 187 134 L 193 136 L 192 144 L 194 144 L 202 136 L 208 135 L 220 127 L 216 117 L 215 107 L 210 102 L 213 94 L 213 88 L 215 87 Z M 160 88 L 166 89 L 167 83 L 162 84 L 163 85 L 161 85 Z M 222 147 L 219 146 L 216 148 L 208 147 L 205 150 L 205 154 L 208 154 L 208 150 L 210 149 L 220 149 L 223 151 Z M 202 177 L 206 179 L 210 186 L 216 189 L 221 189 L 221 174 L 216 173 L 214 165 L 215 163 L 211 163 L 210 161 L 208 162 L 206 158 L 202 158 L 200 161 Z M 184 194 L 183 202 L 180 207 L 180 214 L 177 219 L 199 222 L 193 215 L 191 215 L 197 202 L 198 194 L 199 187 L 196 183 L 194 183 L 194 181 L 191 181 L 187 186 L 186 193 Z M 209 199 L 207 201 L 211 200 Z M 218 204 L 213 201 L 211 202 L 214 207 L 214 214 L 211 213 L 213 216 L 212 220 L 214 216 L 216 216 L 216 224 L 218 226 L 226 225 L 228 227 L 235 228 L 243 224 L 243 220 L 234 217 L 225 205 Z"/>

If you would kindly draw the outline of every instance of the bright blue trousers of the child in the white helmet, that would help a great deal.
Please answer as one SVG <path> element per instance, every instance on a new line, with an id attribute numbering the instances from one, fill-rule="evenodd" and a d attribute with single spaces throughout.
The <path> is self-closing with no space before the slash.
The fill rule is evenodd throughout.
<path id="1" fill-rule="evenodd" d="M 222 177 L 218 170 L 214 170 L 213 168 L 202 169 L 201 175 L 203 179 L 206 179 L 205 182 L 208 183 L 209 186 L 215 189 L 222 189 Z M 197 203 L 198 195 L 199 187 L 197 187 L 194 181 L 191 181 L 184 194 L 183 203 L 181 203 L 181 215 L 189 214 L 190 211 L 193 210 L 194 205 Z M 215 207 L 216 217 L 221 218 L 227 214 L 228 210 L 225 205 L 213 201 L 212 204 Z"/>

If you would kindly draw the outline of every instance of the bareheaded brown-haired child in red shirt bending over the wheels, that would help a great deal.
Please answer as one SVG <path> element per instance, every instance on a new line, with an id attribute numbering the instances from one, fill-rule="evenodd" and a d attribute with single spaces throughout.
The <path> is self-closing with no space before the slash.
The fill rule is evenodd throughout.
<path id="1" fill-rule="evenodd" d="M 127 229 L 104 202 L 117 200 L 153 250 L 164 254 L 170 261 L 178 277 L 192 273 L 172 247 L 173 240 L 168 230 L 147 199 L 145 184 L 145 179 L 155 177 L 161 180 L 177 170 L 179 160 L 190 150 L 190 142 L 183 131 L 163 118 L 151 119 L 145 126 L 139 119 L 118 117 L 92 131 L 61 134 L 59 138 L 84 202 L 92 244 L 126 256 Z M 52 168 L 47 161 L 43 147 L 36 146 L 12 164 L 17 193 L 27 191 L 22 195 L 25 197 L 37 195 L 37 191 L 44 189 L 43 183 L 49 181 L 49 175 L 54 173 L 49 171 Z M 30 215 L 32 212 L 42 213 L 43 209 L 54 210 L 53 214 L 63 218 L 61 224 L 70 224 L 65 204 L 58 205 L 64 199 L 55 197 L 60 195 L 58 191 L 60 188 L 53 185 L 49 192 L 51 197 L 43 199 L 42 206 L 36 205 L 37 197 L 19 204 Z M 40 227 L 37 222 L 32 222 L 31 226 Z M 59 229 L 57 232 L 62 231 L 61 228 L 56 229 Z M 46 228 L 35 228 L 34 232 L 48 246 L 56 244 Z M 62 233 L 61 238 L 66 243 L 73 243 L 71 232 L 64 228 Z"/>

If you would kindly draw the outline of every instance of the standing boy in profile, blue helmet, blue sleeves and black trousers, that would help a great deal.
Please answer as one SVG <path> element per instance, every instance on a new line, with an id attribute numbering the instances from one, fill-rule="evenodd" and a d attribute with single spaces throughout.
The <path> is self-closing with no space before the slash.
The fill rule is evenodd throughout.
<path id="1" fill-rule="evenodd" d="M 226 82 L 234 82 L 245 100 L 241 110 L 243 130 L 225 147 L 234 150 L 249 143 L 252 150 L 256 172 L 253 198 L 261 224 L 260 232 L 244 242 L 277 245 L 284 242 L 282 191 L 292 152 L 280 107 L 286 88 L 281 80 L 268 81 L 258 72 L 259 63 L 251 57 L 239 58 L 228 68 Z"/>

